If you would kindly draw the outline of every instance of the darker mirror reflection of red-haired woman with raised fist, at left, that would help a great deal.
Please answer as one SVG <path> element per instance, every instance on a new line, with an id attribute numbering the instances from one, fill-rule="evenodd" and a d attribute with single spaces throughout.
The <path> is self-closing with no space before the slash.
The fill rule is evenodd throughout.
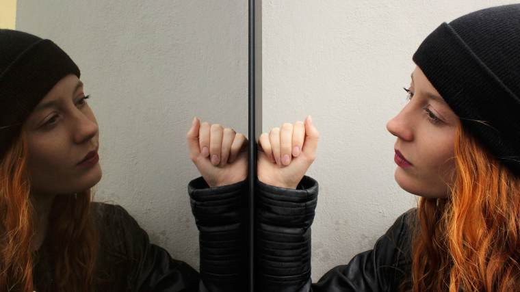
<path id="1" fill-rule="evenodd" d="M 99 128 L 70 57 L 21 31 L 0 44 L 0 291 L 244 291 L 244 135 L 198 119 L 187 133 L 198 274 L 92 202 Z"/>

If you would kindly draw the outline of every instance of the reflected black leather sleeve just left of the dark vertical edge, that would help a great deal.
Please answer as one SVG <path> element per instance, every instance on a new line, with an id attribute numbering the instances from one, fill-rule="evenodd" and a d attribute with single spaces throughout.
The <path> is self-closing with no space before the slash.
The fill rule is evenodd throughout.
<path id="1" fill-rule="evenodd" d="M 247 179 L 209 187 L 202 176 L 188 185 L 199 230 L 200 291 L 246 291 Z"/>

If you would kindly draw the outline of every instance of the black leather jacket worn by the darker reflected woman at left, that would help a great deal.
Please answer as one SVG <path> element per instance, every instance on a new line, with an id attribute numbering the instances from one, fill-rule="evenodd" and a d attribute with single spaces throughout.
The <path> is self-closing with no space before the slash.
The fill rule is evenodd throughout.
<path id="1" fill-rule="evenodd" d="M 99 230 L 94 291 L 246 291 L 244 214 L 246 181 L 209 188 L 202 177 L 188 185 L 199 230 L 200 274 L 150 243 L 125 209 L 93 203 Z M 179 239 L 181 240 L 181 239 Z M 53 291 L 53 253 L 46 240 L 34 267 L 34 289 Z"/>

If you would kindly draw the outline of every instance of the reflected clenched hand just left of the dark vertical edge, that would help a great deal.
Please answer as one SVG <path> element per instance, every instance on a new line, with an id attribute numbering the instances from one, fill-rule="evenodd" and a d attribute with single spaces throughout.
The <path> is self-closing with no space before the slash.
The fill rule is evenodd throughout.
<path id="1" fill-rule="evenodd" d="M 190 159 L 209 187 L 244 181 L 248 173 L 248 140 L 220 124 L 200 124 L 194 118 L 186 134 Z"/>

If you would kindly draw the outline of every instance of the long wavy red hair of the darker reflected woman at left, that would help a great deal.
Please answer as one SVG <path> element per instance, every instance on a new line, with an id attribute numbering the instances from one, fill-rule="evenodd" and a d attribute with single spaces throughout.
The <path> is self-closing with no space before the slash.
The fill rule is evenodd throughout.
<path id="1" fill-rule="evenodd" d="M 31 292 L 36 254 L 34 206 L 27 173 L 28 148 L 21 133 L 0 161 L 0 289 Z M 51 291 L 90 292 L 93 287 L 97 235 L 90 215 L 90 189 L 56 196 L 47 231 L 53 250 L 55 282 Z"/>

